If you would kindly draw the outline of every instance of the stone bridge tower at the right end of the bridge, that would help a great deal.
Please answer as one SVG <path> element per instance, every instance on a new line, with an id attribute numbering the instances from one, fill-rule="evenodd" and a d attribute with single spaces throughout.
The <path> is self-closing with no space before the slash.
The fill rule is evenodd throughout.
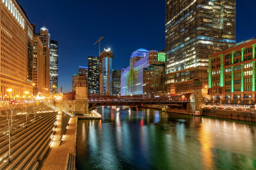
<path id="1" fill-rule="evenodd" d="M 191 84 L 191 97 L 188 109 L 193 112 L 195 115 L 196 111 L 200 112 L 200 115 L 203 114 L 203 95 L 202 95 L 203 84 L 199 79 L 194 79 Z"/>

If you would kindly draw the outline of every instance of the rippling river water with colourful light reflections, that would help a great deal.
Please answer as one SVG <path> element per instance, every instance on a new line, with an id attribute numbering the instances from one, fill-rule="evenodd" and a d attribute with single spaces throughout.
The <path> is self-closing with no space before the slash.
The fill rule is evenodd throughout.
<path id="1" fill-rule="evenodd" d="M 146 108 L 79 120 L 78 169 L 256 169 L 256 123 Z"/>

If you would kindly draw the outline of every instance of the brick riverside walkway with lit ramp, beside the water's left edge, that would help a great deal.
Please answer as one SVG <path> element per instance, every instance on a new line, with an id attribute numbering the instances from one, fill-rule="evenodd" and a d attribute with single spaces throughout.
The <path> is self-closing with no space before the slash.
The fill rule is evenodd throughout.
<path id="1" fill-rule="evenodd" d="M 60 144 L 61 112 L 58 115 L 58 122 L 54 140 L 38 166 L 38 170 L 60 170 L 65 169 L 67 155 L 75 152 L 76 116 L 71 117 L 68 129 Z"/>

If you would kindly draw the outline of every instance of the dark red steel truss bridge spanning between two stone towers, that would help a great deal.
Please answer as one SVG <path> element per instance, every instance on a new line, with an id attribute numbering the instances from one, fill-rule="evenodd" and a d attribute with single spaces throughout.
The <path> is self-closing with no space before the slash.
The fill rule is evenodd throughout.
<path id="1" fill-rule="evenodd" d="M 176 109 L 187 109 L 187 103 L 190 102 L 191 93 L 181 95 L 167 95 L 159 98 L 138 98 L 131 96 L 101 96 L 88 93 L 88 111 L 92 111 L 100 106 L 148 106 L 148 105 L 166 105 Z"/>

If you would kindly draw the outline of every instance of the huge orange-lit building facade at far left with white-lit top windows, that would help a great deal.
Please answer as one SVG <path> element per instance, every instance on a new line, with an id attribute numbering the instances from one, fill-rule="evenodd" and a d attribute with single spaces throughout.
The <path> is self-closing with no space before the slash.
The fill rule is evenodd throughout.
<path id="1" fill-rule="evenodd" d="M 33 93 L 33 28 L 16 0 L 1 0 L 0 95 Z"/>

